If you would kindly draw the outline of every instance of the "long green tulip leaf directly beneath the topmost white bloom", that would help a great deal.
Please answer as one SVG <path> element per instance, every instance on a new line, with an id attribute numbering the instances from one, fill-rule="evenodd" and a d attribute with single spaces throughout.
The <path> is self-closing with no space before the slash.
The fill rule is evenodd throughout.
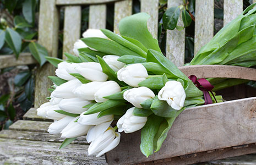
<path id="1" fill-rule="evenodd" d="M 94 48 L 98 51 L 105 52 L 107 54 L 113 54 L 117 56 L 122 55 L 134 55 L 139 56 L 139 54 L 129 50 L 129 48 L 122 46 L 121 44 L 107 40 L 105 38 L 98 38 L 98 37 L 88 37 L 88 38 L 81 38 L 82 41 L 85 42 L 91 48 Z"/>

